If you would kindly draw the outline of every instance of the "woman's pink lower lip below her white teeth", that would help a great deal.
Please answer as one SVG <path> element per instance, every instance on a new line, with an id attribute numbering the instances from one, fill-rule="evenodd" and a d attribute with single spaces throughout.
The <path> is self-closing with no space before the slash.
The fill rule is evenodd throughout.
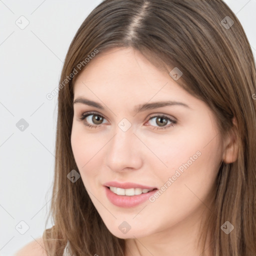
<path id="1" fill-rule="evenodd" d="M 106 196 L 108 200 L 119 207 L 129 208 L 139 205 L 140 203 L 148 200 L 148 198 L 155 193 L 157 189 L 153 189 L 150 192 L 137 194 L 137 195 L 118 195 L 112 192 L 105 186 Z"/>

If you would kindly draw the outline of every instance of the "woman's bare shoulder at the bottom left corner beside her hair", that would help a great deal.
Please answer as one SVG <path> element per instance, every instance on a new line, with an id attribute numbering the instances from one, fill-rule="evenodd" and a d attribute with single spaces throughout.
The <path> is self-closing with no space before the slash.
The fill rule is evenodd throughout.
<path id="1" fill-rule="evenodd" d="M 36 238 L 19 249 L 14 256 L 47 256 L 42 237 Z"/>

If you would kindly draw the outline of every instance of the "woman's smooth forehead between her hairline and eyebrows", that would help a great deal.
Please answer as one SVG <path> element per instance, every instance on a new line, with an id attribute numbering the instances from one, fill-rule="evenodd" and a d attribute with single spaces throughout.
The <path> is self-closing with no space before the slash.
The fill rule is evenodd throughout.
<path id="1" fill-rule="evenodd" d="M 74 95 L 83 93 L 118 97 L 157 97 L 191 95 L 181 88 L 163 69 L 157 68 L 139 51 L 112 48 L 98 53 L 79 74 L 74 84 Z M 92 95 L 95 98 L 95 95 Z"/>

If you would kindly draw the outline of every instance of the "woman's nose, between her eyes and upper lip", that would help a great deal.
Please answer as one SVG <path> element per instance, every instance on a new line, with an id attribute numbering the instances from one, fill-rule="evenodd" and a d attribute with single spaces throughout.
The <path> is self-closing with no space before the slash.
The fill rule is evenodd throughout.
<path id="1" fill-rule="evenodd" d="M 119 127 L 108 142 L 106 164 L 112 171 L 139 169 L 142 165 L 141 141 L 130 128 L 127 131 Z"/>

